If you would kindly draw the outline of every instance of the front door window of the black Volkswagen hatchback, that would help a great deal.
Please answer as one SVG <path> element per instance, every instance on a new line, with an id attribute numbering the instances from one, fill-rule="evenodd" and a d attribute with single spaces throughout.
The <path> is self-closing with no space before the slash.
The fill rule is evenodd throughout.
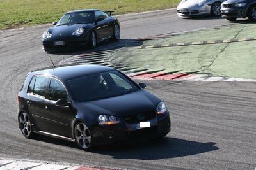
<path id="1" fill-rule="evenodd" d="M 56 80 L 55 78 L 51 79 L 51 83 L 49 86 L 49 99 L 51 101 L 67 99 L 67 91 L 65 87 L 59 80 Z"/>

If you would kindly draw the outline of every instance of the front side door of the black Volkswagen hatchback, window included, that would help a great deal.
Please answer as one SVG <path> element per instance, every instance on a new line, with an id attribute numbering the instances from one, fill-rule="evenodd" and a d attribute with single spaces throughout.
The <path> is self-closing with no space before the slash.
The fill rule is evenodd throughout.
<path id="1" fill-rule="evenodd" d="M 74 114 L 70 106 L 56 106 L 56 101 L 66 99 L 69 103 L 67 90 L 63 83 L 56 78 L 51 78 L 49 83 L 49 96 L 45 100 L 45 108 L 47 113 L 45 117 L 48 122 L 48 132 L 72 138 L 72 128 L 70 127 Z"/>

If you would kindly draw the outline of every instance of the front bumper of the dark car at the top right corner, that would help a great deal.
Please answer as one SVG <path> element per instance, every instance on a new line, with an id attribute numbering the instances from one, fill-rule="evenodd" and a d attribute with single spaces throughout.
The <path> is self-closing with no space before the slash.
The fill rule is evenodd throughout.
<path id="1" fill-rule="evenodd" d="M 223 18 L 241 18 L 247 17 L 247 6 L 240 8 L 221 8 Z"/>

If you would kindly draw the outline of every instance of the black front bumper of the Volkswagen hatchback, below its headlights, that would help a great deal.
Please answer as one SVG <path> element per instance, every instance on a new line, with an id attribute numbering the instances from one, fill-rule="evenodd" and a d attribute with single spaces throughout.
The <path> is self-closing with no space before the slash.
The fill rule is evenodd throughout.
<path id="1" fill-rule="evenodd" d="M 157 115 L 150 120 L 151 127 L 138 129 L 138 124 L 116 124 L 95 127 L 93 131 L 94 145 L 110 145 L 120 143 L 131 143 L 136 141 L 145 141 L 152 138 L 164 136 L 171 131 L 171 122 L 169 113 Z"/>

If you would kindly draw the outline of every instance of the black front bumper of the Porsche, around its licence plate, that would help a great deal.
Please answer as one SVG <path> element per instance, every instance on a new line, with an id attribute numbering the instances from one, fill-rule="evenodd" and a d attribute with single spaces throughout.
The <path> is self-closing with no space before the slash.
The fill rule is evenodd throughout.
<path id="1" fill-rule="evenodd" d="M 54 45 L 56 41 L 63 41 L 64 45 Z M 54 52 L 59 50 L 76 49 L 81 46 L 87 45 L 90 42 L 89 34 L 85 34 L 82 37 L 70 36 L 64 38 L 50 38 L 42 41 L 43 49 L 46 52 Z"/>

